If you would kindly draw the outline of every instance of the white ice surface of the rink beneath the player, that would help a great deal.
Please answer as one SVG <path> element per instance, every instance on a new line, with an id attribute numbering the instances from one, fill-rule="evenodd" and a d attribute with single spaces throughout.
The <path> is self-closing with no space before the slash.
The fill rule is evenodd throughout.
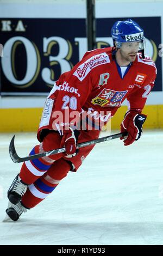
<path id="1" fill-rule="evenodd" d="M 0 245 L 163 245 L 163 131 L 145 131 L 128 147 L 97 144 L 42 203 L 2 222 L 21 167 L 8 153 L 12 136 L 0 135 Z M 34 133 L 16 134 L 18 155 L 35 144 Z"/>

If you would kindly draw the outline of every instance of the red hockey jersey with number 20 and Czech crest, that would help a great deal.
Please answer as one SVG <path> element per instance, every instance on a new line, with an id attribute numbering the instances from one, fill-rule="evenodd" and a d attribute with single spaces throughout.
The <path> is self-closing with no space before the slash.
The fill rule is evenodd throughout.
<path id="1" fill-rule="evenodd" d="M 60 76 L 47 97 L 39 131 L 56 130 L 57 124 L 58 130 L 76 124 L 84 112 L 105 124 L 126 98 L 130 109 L 142 111 L 154 86 L 155 63 L 137 53 L 122 78 L 112 50 L 108 47 L 86 52 L 71 71 Z"/>

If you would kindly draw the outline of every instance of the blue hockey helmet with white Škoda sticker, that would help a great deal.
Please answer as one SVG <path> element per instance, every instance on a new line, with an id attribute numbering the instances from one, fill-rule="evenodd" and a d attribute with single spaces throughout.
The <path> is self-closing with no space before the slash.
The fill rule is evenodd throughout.
<path id="1" fill-rule="evenodd" d="M 118 43 L 118 47 L 121 47 L 122 42 L 141 41 L 141 50 L 144 48 L 143 29 L 131 19 L 126 21 L 116 21 L 111 28 L 111 36 L 113 41 Z"/>

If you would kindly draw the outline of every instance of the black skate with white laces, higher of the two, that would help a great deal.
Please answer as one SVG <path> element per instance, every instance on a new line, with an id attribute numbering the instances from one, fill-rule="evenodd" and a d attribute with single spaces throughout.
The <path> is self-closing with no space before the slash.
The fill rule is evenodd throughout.
<path id="1" fill-rule="evenodd" d="M 17 174 L 16 178 L 12 181 L 12 184 L 8 190 L 8 199 L 12 204 L 20 202 L 23 194 L 26 192 L 28 185 L 23 184 L 20 176 Z"/>

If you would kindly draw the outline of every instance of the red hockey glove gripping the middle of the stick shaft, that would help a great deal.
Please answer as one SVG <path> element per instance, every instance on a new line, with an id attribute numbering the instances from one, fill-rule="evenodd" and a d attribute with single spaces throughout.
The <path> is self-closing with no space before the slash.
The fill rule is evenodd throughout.
<path id="1" fill-rule="evenodd" d="M 76 156 L 79 152 L 76 147 L 79 133 L 78 130 L 73 130 L 71 127 L 69 127 L 69 130 L 62 130 L 61 145 L 66 148 L 66 157 L 68 158 Z"/>

